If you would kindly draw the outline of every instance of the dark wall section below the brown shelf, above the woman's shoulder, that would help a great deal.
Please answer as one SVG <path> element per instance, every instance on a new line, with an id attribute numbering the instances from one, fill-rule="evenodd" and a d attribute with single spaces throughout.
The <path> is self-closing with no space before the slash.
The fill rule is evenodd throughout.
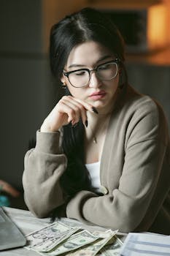
<path id="1" fill-rule="evenodd" d="M 166 56 L 165 56 L 166 58 Z M 170 63 L 127 63 L 129 83 L 143 94 L 156 99 L 163 107 L 170 127 Z"/>

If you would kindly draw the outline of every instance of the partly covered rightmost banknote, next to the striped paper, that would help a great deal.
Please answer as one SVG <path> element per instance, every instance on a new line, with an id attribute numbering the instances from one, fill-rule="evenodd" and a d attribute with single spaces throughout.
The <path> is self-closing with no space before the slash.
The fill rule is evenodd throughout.
<path id="1" fill-rule="evenodd" d="M 109 242 L 100 249 L 98 256 L 117 256 L 120 255 L 120 249 L 123 245 L 123 242 L 117 238 L 117 236 L 113 236 Z"/>

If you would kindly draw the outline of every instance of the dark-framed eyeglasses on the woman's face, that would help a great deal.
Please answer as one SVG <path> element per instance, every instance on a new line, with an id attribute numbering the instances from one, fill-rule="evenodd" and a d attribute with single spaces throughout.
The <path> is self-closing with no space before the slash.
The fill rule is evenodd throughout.
<path id="1" fill-rule="evenodd" d="M 76 87 L 88 86 L 90 82 L 91 72 L 95 71 L 96 76 L 101 80 L 112 80 L 117 76 L 119 59 L 107 61 L 104 64 L 98 65 L 96 69 L 77 69 L 69 72 L 63 72 L 69 79 L 69 83 Z"/>

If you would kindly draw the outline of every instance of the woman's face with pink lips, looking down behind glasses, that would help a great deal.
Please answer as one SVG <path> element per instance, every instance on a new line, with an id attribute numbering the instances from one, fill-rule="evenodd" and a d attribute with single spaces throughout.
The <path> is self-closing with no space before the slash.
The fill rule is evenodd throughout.
<path id="1" fill-rule="evenodd" d="M 83 68 L 96 69 L 98 65 L 114 59 L 115 56 L 99 43 L 93 41 L 84 42 L 72 49 L 64 71 L 69 72 Z M 66 83 L 73 97 L 82 99 L 100 110 L 100 112 L 103 112 L 101 110 L 109 110 L 112 107 L 113 98 L 117 91 L 119 72 L 112 80 L 101 80 L 96 76 L 96 72 L 91 72 L 88 85 L 81 88 L 73 87 L 65 75 L 63 75 L 61 81 Z"/>

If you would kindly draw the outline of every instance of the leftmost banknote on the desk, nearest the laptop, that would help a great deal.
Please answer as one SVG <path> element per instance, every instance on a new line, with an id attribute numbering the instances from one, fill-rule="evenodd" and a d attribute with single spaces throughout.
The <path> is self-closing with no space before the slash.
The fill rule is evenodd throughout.
<path id="1" fill-rule="evenodd" d="M 28 244 L 26 249 L 48 252 L 79 229 L 79 227 L 69 227 L 64 223 L 55 222 L 41 230 L 28 234 L 26 236 Z"/>

